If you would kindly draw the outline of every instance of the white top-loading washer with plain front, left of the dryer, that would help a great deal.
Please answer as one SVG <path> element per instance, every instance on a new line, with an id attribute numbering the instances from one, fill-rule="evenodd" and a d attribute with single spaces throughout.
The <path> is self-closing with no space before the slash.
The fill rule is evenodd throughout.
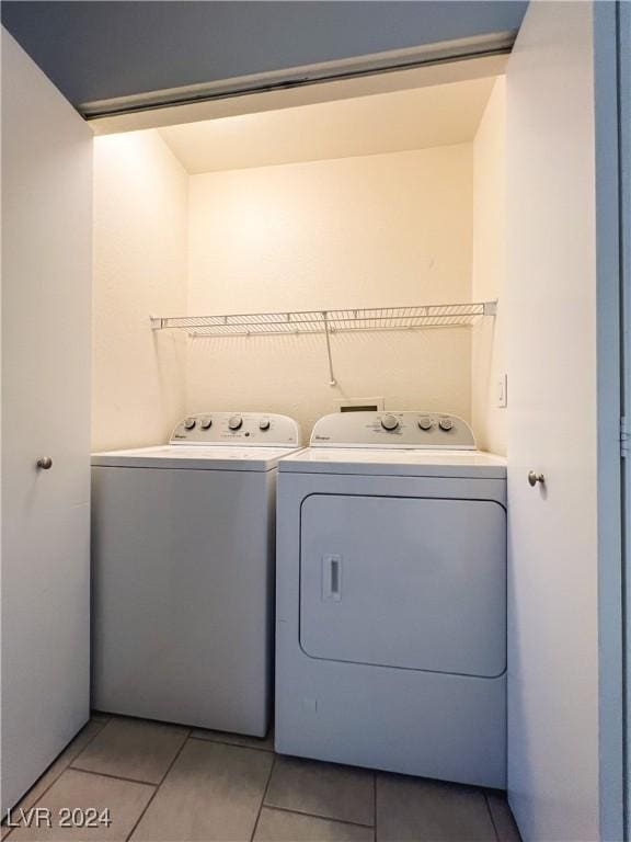
<path id="1" fill-rule="evenodd" d="M 286 416 L 213 412 L 93 455 L 93 707 L 267 732 L 276 474 L 299 445 Z"/>

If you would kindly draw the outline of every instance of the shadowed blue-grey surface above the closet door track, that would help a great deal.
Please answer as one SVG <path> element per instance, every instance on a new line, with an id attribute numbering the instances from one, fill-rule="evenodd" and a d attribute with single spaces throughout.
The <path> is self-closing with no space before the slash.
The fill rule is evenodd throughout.
<path id="1" fill-rule="evenodd" d="M 74 105 L 489 33 L 509 0 L 2 0 L 2 24 Z"/>

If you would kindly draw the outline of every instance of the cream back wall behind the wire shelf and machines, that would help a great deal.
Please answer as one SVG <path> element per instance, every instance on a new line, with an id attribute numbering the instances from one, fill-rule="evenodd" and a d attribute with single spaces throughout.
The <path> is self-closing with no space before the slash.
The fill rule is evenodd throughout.
<path id="1" fill-rule="evenodd" d="M 466 301 L 471 145 L 194 175 L 192 314 Z M 463 329 L 191 342 L 187 411 L 295 416 L 308 434 L 335 399 L 470 418 Z"/>

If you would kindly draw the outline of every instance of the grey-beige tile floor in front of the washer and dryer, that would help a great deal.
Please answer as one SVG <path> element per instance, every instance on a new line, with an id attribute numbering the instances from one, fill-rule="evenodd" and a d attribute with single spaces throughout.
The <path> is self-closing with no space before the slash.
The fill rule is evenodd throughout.
<path id="1" fill-rule="evenodd" d="M 32 807 L 51 810 L 53 827 L 3 827 L 2 840 L 519 841 L 497 790 L 284 758 L 272 737 L 102 715 L 19 805 Z M 112 823 L 61 828 L 62 807 L 108 807 Z"/>

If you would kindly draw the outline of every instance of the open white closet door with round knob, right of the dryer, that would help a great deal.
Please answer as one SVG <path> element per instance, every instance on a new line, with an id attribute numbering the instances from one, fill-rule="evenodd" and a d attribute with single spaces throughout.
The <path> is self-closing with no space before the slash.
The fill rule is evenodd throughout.
<path id="1" fill-rule="evenodd" d="M 508 797 L 526 842 L 599 838 L 594 5 L 530 3 L 506 77 Z"/>

